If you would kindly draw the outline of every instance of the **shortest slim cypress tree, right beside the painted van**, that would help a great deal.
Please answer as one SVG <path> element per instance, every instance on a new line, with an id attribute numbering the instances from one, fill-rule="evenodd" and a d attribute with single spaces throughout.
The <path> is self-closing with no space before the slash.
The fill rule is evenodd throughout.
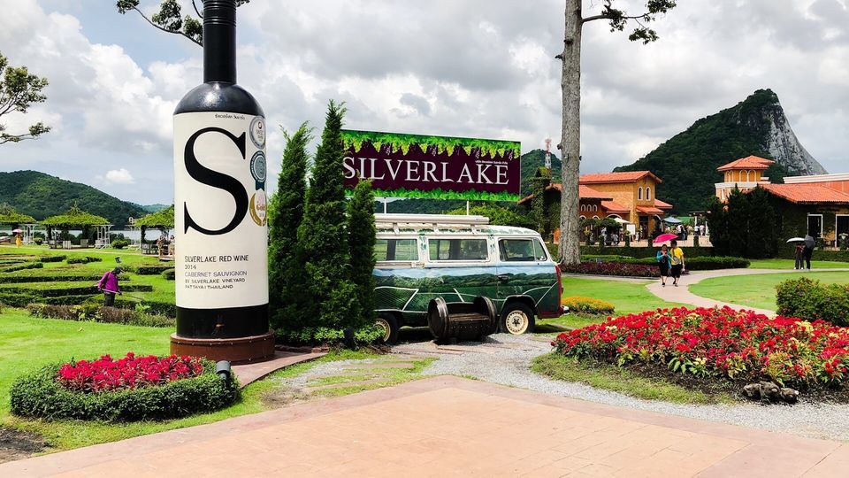
<path id="1" fill-rule="evenodd" d="M 361 328 L 374 322 L 374 193 L 369 181 L 360 181 L 348 202 L 348 245 L 351 251 L 351 281 L 356 284 L 362 313 L 351 326 Z"/>

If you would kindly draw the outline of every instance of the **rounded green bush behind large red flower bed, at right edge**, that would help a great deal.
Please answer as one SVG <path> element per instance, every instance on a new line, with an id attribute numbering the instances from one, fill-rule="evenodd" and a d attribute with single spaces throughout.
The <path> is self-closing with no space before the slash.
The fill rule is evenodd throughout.
<path id="1" fill-rule="evenodd" d="M 849 326 L 849 285 L 828 284 L 807 277 L 784 281 L 776 286 L 778 314 L 802 320 L 826 320 Z"/>

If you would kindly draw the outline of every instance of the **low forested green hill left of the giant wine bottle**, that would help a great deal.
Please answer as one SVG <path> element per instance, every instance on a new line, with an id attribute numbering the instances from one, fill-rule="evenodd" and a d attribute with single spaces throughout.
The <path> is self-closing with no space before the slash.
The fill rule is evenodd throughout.
<path id="1" fill-rule="evenodd" d="M 37 171 L 0 173 L 0 203 L 8 203 L 36 220 L 66 212 L 76 203 L 81 210 L 103 216 L 116 227 L 126 225 L 130 217 L 140 218 L 147 214 L 139 204 Z"/>

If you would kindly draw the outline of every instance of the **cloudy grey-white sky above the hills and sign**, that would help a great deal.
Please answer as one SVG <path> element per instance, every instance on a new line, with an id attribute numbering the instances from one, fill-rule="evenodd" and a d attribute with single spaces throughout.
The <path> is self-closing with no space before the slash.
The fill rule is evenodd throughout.
<path id="1" fill-rule="evenodd" d="M 585 13 L 600 3 L 585 0 Z M 847 0 L 678 3 L 647 46 L 585 26 L 583 172 L 631 163 L 761 88 L 776 91 L 822 166 L 849 172 Z M 640 2 L 616 4 L 638 12 Z M 0 146 L 0 171 L 171 203 L 171 115 L 201 81 L 202 52 L 114 5 L 0 0 L 0 52 L 50 80 L 45 104 L 3 121 L 11 132 L 53 127 Z M 347 102 L 348 127 L 514 139 L 528 151 L 557 143 L 562 31 L 562 0 L 254 0 L 239 9 L 239 83 L 270 126 L 320 128 L 333 98 Z M 269 129 L 276 174 L 282 135 Z"/>

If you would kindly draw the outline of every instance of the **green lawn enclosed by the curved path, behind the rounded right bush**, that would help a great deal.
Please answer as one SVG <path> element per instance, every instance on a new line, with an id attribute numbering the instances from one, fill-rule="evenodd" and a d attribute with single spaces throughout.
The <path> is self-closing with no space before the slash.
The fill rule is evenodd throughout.
<path id="1" fill-rule="evenodd" d="M 701 297 L 774 311 L 776 310 L 776 285 L 799 277 L 809 277 L 823 283 L 849 283 L 849 272 L 753 274 L 706 279 L 691 285 L 690 291 Z"/>

